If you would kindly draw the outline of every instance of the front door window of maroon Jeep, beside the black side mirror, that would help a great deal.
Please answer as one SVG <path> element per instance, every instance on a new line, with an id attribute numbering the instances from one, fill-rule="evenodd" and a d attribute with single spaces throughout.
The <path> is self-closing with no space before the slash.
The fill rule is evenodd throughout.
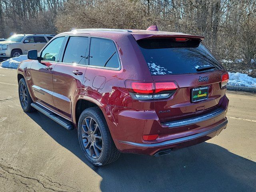
<path id="1" fill-rule="evenodd" d="M 43 61 L 57 61 L 60 54 L 60 48 L 65 37 L 59 37 L 54 39 L 46 48 L 42 51 L 41 58 Z"/>

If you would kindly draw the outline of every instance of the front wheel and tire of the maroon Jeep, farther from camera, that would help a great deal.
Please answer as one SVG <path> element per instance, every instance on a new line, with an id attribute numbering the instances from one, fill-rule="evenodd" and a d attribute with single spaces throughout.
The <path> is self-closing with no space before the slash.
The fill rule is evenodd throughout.
<path id="1" fill-rule="evenodd" d="M 28 92 L 28 86 L 24 78 L 21 78 L 18 86 L 20 105 L 24 112 L 34 112 L 35 109 L 31 106 L 33 100 Z"/>

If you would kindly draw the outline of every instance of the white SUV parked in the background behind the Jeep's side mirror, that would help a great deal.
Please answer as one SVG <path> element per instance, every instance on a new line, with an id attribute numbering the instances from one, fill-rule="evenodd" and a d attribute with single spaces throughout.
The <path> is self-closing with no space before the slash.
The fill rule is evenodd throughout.
<path id="1" fill-rule="evenodd" d="M 54 35 L 31 35 L 18 34 L 10 36 L 5 41 L 0 42 L 0 58 L 18 57 L 27 54 L 29 50 L 38 52 L 44 45 L 54 37 Z"/>

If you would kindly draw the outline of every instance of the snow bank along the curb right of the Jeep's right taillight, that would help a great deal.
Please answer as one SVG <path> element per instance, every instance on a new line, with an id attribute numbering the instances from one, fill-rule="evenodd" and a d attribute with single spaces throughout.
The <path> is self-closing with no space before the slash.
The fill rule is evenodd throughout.
<path id="1" fill-rule="evenodd" d="M 256 87 L 256 78 L 252 78 L 243 73 L 228 73 L 229 81 L 228 85 L 231 86 L 244 86 L 244 87 Z"/>

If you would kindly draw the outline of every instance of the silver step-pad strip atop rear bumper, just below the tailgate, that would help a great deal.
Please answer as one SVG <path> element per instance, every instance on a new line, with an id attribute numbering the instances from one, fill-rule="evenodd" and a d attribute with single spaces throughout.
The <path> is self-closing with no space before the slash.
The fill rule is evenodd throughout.
<path id="1" fill-rule="evenodd" d="M 210 113 L 204 114 L 204 115 L 196 116 L 196 117 L 193 117 L 193 118 L 187 118 L 187 119 L 183 119 L 183 120 L 164 122 L 164 123 L 161 123 L 161 124 L 163 126 L 168 126 L 168 128 L 187 126 L 187 125 L 199 123 L 199 122 L 202 122 L 202 121 L 206 121 L 206 120 L 209 120 L 211 118 L 215 118 L 215 117 L 219 116 L 220 114 L 222 114 L 224 112 L 225 112 L 224 109 L 218 108 L 218 109 L 216 109 L 216 110 L 214 110 Z"/>

